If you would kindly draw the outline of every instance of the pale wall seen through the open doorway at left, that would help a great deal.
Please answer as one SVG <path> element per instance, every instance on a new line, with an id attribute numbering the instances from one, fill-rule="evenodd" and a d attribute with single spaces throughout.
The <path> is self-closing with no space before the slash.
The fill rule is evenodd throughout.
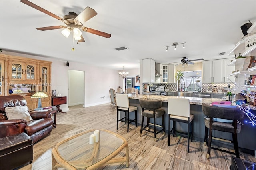
<path id="1" fill-rule="evenodd" d="M 84 72 L 68 70 L 68 106 L 84 104 Z"/>

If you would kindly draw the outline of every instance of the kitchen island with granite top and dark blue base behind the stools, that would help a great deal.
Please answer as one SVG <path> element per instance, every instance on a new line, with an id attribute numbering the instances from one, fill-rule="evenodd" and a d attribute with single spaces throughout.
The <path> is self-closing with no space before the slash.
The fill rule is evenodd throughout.
<path id="1" fill-rule="evenodd" d="M 131 106 L 138 107 L 138 124 L 141 124 L 141 107 L 140 98 L 145 99 L 160 99 L 162 100 L 162 109 L 165 110 L 165 132 L 168 134 L 168 98 L 188 98 L 190 100 L 190 114 L 194 115 L 194 128 L 193 128 L 193 140 L 203 142 L 204 141 L 204 113 L 202 112 L 202 103 L 211 104 L 215 101 L 222 101 L 222 99 L 216 98 L 194 98 L 194 97 L 179 97 L 179 96 L 160 96 L 160 95 L 145 95 L 145 94 L 128 94 L 129 102 Z M 122 114 L 122 113 L 121 113 Z M 232 114 L 232 113 L 230 113 Z M 130 116 L 133 119 L 132 114 Z M 245 121 L 248 120 L 247 116 L 244 116 L 241 128 L 241 132 L 238 134 L 238 146 L 246 153 L 253 154 L 256 150 L 256 127 L 251 124 L 246 124 Z M 146 121 L 144 122 L 146 124 Z M 156 124 L 162 124 L 161 119 L 156 119 Z M 172 127 L 172 121 L 171 121 Z M 180 122 L 176 122 L 177 130 L 185 131 L 187 130 L 187 125 Z M 145 133 L 145 132 L 143 132 Z M 225 132 L 213 132 L 213 135 L 217 138 L 232 139 L 232 134 Z M 157 135 L 159 138 L 161 134 Z M 167 136 L 166 136 L 167 137 Z M 233 148 L 233 145 L 222 141 L 212 141 L 212 144 L 218 146 L 224 146 L 227 148 Z"/>

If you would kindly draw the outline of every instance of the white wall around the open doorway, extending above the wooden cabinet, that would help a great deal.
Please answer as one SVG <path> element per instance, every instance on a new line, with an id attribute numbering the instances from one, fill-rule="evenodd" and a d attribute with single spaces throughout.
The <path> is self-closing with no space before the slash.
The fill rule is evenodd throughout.
<path id="1" fill-rule="evenodd" d="M 119 86 L 120 77 L 118 76 L 118 70 L 101 68 L 70 61 L 69 67 L 67 67 L 66 61 L 62 60 L 31 56 L 27 54 L 17 54 L 14 52 L 2 52 L 2 54 L 52 61 L 52 89 L 56 89 L 57 92 L 62 94 L 62 96 L 67 96 L 67 104 L 62 104 L 60 106 L 64 112 L 68 111 L 69 103 L 68 70 L 84 71 L 84 107 L 110 103 L 110 88 L 115 89 Z"/>

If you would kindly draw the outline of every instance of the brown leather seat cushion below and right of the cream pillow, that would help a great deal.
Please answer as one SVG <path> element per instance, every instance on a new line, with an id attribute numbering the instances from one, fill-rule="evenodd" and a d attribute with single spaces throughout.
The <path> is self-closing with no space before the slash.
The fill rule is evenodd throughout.
<path id="1" fill-rule="evenodd" d="M 32 120 L 28 122 L 25 130 L 26 133 L 31 136 L 32 134 L 38 132 L 39 130 L 42 130 L 43 128 L 46 128 L 48 126 L 52 126 L 53 119 L 52 118 L 44 118 L 44 119 L 38 119 L 38 120 Z"/>

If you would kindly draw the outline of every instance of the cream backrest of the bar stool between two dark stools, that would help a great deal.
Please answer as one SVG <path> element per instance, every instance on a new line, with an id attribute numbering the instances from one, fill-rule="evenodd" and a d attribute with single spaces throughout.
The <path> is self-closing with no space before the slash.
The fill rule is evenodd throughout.
<path id="1" fill-rule="evenodd" d="M 189 99 L 168 98 L 168 114 L 190 117 Z"/>

